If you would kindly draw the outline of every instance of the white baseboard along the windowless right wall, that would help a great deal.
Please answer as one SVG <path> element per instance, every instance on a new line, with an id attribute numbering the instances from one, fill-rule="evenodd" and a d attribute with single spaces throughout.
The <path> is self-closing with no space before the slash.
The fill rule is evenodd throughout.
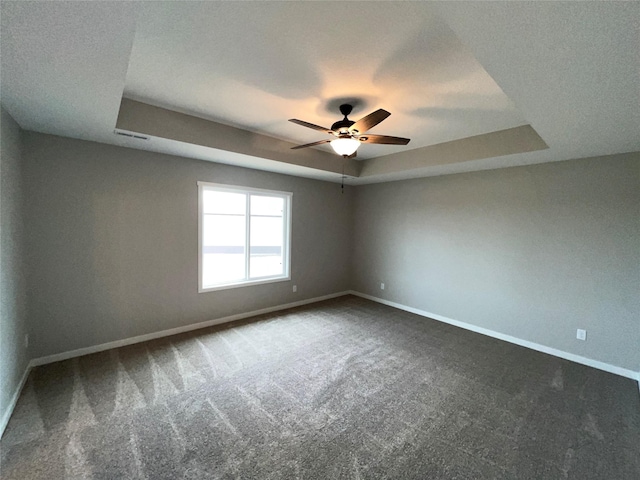
<path id="1" fill-rule="evenodd" d="M 530 342 L 528 340 L 522 340 L 521 338 L 512 337 L 511 335 L 505 335 L 504 333 L 489 330 L 487 328 L 478 327 L 470 323 L 453 320 L 452 318 L 443 317 L 442 315 L 438 315 L 435 313 L 425 312 L 424 310 L 408 307 L 400 303 L 391 302 L 389 300 L 374 297 L 372 295 L 367 295 L 365 293 L 360 293 L 356 291 L 350 291 L 348 293 L 352 295 L 356 295 L 358 297 L 366 298 L 367 300 L 372 300 L 374 302 L 382 303 L 390 307 L 398 308 L 406 312 L 415 313 L 416 315 L 420 315 L 422 317 L 432 318 L 433 320 L 438 320 L 440 322 L 448 323 L 456 327 L 464 328 L 465 330 L 470 330 L 472 332 L 481 333 L 482 335 L 487 335 L 489 337 L 497 338 L 498 340 L 504 340 L 505 342 L 514 343 L 516 345 L 520 345 L 521 347 L 530 348 L 532 350 L 537 350 L 538 352 L 547 353 L 555 357 L 560 357 L 560 358 L 564 358 L 565 360 L 570 360 L 572 362 L 580 363 L 582 365 L 587 365 L 588 367 L 597 368 L 598 370 L 604 370 L 605 372 L 614 373 L 616 375 L 621 375 L 623 377 L 631 378 L 632 380 L 636 380 L 638 382 L 638 389 L 640 390 L 640 372 L 634 372 L 633 370 L 629 370 L 627 368 L 617 367 L 615 365 L 610 365 L 608 363 L 604 363 L 599 360 L 593 360 L 591 358 L 576 355 L 574 353 L 558 350 L 557 348 L 547 347 L 546 345 Z"/>

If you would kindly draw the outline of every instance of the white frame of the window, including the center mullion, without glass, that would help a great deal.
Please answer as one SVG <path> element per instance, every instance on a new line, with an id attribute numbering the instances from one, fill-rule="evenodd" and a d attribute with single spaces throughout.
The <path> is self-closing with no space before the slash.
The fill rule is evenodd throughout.
<path id="1" fill-rule="evenodd" d="M 230 192 L 230 193 L 243 193 L 245 195 L 250 194 L 264 194 L 270 197 L 281 197 L 284 200 L 284 208 L 283 208 L 283 252 L 282 252 L 282 262 L 283 262 L 283 273 L 278 276 L 269 276 L 269 277 L 260 277 L 249 279 L 245 278 L 244 280 L 240 280 L 233 283 L 225 283 L 221 285 L 216 285 L 213 287 L 204 287 L 202 284 L 202 249 L 203 249 L 203 219 L 204 219 L 204 205 L 203 205 L 203 192 L 206 187 L 213 188 L 220 192 Z M 198 182 L 198 292 L 213 292 L 217 290 L 227 290 L 230 288 L 239 288 L 239 287 L 248 287 L 250 285 L 261 285 L 265 283 L 275 283 L 275 282 L 286 282 L 291 280 L 291 205 L 293 200 L 292 192 L 282 192 L 278 190 L 266 190 L 261 188 L 252 188 L 252 187 L 243 187 L 240 185 L 226 185 L 222 183 L 211 183 L 211 182 Z M 245 252 L 245 270 L 248 269 L 248 259 L 249 259 L 249 224 L 250 224 L 250 215 L 249 215 L 250 202 L 247 199 L 247 207 L 246 207 L 246 222 L 247 222 L 247 242 L 246 242 L 246 252 Z"/>

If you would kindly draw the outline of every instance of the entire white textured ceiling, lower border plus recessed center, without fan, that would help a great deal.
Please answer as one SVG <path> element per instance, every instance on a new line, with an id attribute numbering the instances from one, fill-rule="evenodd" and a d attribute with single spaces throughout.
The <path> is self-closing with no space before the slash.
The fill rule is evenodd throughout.
<path id="1" fill-rule="evenodd" d="M 638 2 L 3 1 L 1 100 L 28 130 L 246 165 L 114 135 L 122 97 L 292 143 L 323 134 L 287 119 L 330 126 L 355 98 L 411 143 L 361 146 L 351 183 L 558 161 L 640 150 L 638 25 Z M 366 159 L 527 124 L 548 149 L 367 178 Z"/>

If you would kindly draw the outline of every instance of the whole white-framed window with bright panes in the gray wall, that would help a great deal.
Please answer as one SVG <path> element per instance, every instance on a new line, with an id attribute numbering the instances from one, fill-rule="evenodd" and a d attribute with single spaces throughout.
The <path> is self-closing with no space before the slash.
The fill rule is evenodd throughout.
<path id="1" fill-rule="evenodd" d="M 292 195 L 198 182 L 200 292 L 290 279 Z"/>

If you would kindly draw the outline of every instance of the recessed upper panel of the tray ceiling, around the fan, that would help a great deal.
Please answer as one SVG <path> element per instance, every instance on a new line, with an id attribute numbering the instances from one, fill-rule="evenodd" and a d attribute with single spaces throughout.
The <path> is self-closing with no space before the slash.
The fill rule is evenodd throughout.
<path id="1" fill-rule="evenodd" d="M 375 132 L 409 148 L 528 123 L 420 3 L 149 3 L 138 18 L 124 93 L 156 106 L 299 143 L 326 136 L 286 120 L 330 127 L 339 98 L 364 99 L 354 119 L 390 111 Z"/>

